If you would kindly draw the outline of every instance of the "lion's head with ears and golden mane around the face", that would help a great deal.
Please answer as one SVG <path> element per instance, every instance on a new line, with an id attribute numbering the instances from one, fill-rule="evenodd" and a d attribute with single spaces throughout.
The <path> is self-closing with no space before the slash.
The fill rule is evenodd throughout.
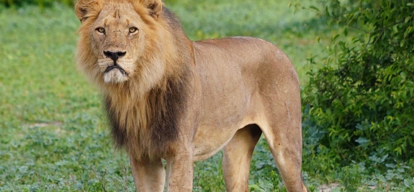
<path id="1" fill-rule="evenodd" d="M 128 82 L 142 93 L 149 90 L 171 60 L 165 53 L 173 51 L 165 46 L 171 35 L 161 12 L 161 0 L 79 0 L 78 66 L 104 89 Z"/>

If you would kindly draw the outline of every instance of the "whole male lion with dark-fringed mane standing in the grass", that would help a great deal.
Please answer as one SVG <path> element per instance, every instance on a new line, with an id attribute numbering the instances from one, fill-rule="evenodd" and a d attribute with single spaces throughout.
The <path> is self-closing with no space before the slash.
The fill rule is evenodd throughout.
<path id="1" fill-rule="evenodd" d="M 301 179 L 296 71 L 272 43 L 251 37 L 190 41 L 161 0 L 79 0 L 77 64 L 101 89 L 137 191 L 191 191 L 193 161 L 223 149 L 227 191 L 248 191 L 263 133 L 286 189 Z"/>

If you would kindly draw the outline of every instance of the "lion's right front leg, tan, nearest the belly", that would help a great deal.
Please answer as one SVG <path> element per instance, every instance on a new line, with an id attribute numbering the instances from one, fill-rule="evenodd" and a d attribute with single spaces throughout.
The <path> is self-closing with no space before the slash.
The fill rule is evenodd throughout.
<path id="1" fill-rule="evenodd" d="M 192 148 L 178 151 L 167 160 L 167 192 L 190 192 L 193 190 Z"/>

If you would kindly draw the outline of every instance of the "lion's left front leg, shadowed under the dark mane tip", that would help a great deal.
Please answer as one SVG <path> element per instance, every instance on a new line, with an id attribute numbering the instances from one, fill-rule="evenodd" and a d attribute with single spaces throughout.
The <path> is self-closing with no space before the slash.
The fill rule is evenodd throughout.
<path id="1" fill-rule="evenodd" d="M 165 169 L 161 158 L 150 161 L 130 156 L 130 163 L 137 192 L 164 191 Z"/>

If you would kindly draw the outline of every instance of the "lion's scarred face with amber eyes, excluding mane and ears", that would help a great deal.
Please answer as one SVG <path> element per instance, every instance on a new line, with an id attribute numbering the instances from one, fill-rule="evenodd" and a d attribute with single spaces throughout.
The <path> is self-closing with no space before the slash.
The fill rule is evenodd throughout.
<path id="1" fill-rule="evenodd" d="M 96 67 L 104 82 L 125 82 L 137 70 L 144 50 L 144 26 L 129 3 L 103 7 L 89 30 Z"/>

